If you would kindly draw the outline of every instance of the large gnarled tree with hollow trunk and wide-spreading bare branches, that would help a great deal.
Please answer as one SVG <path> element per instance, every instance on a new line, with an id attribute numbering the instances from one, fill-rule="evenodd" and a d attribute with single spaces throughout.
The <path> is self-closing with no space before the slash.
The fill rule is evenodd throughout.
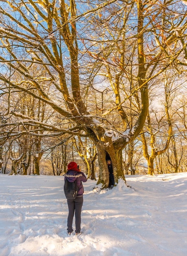
<path id="1" fill-rule="evenodd" d="M 40 122 L 11 104 L 4 115 L 11 113 L 22 124 L 32 124 L 39 137 L 64 133 L 89 137 L 97 148 L 98 182 L 108 187 L 106 155 L 112 160 L 115 181 L 125 180 L 122 150 L 143 128 L 150 82 L 174 62 L 185 65 L 185 8 L 177 9 L 175 2 L 3 1 L 1 91 L 30 94 L 51 108 L 53 118 Z M 31 72 L 37 65 L 42 71 Z M 94 83 L 102 76 L 99 72 L 105 77 L 103 89 L 113 92 L 106 112 L 96 111 L 99 101 L 95 110 L 90 103 L 91 92 L 98 89 Z M 136 115 L 128 110 L 128 99 L 135 93 L 141 108 Z M 103 109 L 108 106 L 104 105 Z M 112 112 L 116 119 L 111 123 Z"/>

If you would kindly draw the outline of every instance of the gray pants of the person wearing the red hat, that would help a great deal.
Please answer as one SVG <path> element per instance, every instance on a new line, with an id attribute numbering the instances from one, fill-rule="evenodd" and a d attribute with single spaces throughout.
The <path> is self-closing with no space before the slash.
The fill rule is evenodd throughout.
<path id="1" fill-rule="evenodd" d="M 83 196 L 80 198 L 75 198 L 74 200 L 67 199 L 68 202 L 68 232 L 73 232 L 73 216 L 75 213 L 75 233 L 79 233 L 81 231 L 81 210 L 83 204 Z"/>

